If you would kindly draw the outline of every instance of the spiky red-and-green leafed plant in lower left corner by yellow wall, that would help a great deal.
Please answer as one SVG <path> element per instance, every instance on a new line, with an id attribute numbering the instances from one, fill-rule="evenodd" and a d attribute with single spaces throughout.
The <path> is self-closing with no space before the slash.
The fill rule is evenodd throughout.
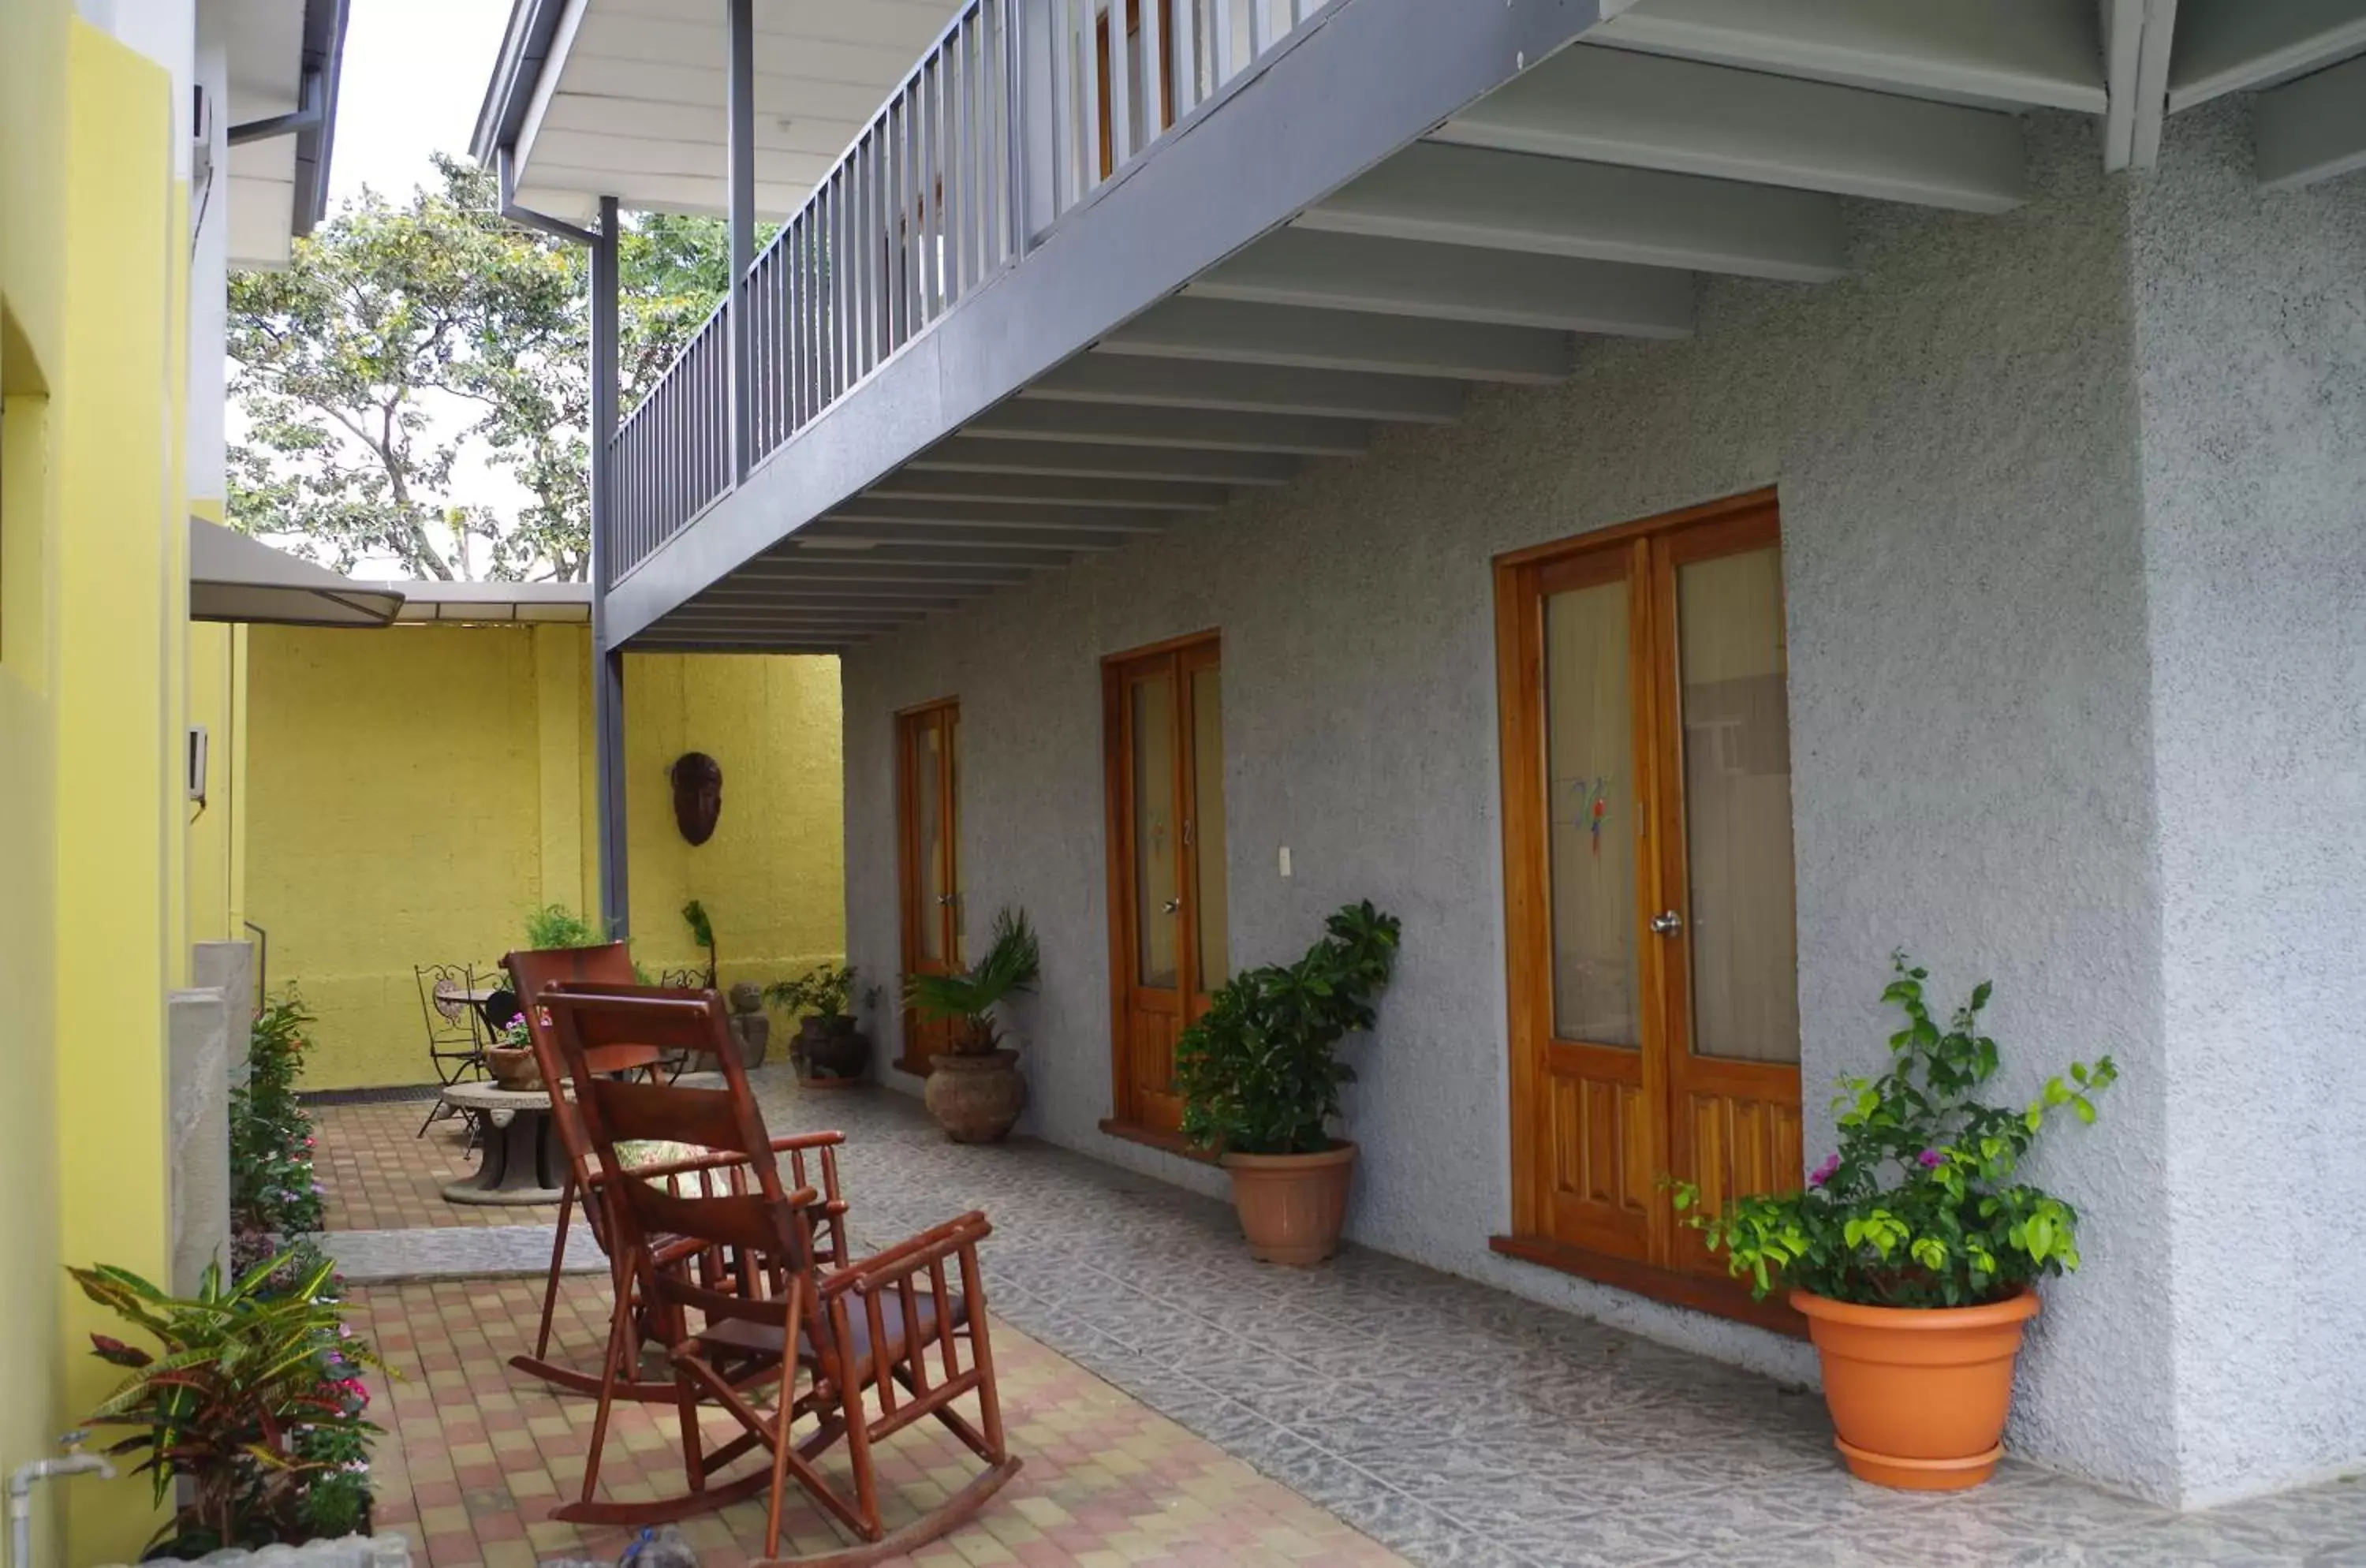
<path id="1" fill-rule="evenodd" d="M 144 1350 L 90 1336 L 97 1358 L 128 1374 L 90 1419 L 137 1428 L 106 1452 L 144 1452 L 137 1469 L 159 1504 L 175 1480 L 189 1483 L 149 1556 L 300 1544 L 367 1523 L 379 1428 L 364 1419 L 360 1374 L 381 1362 L 345 1327 L 327 1261 L 267 1258 L 227 1287 L 208 1265 L 189 1298 L 121 1268 L 66 1272 L 156 1341 Z"/>

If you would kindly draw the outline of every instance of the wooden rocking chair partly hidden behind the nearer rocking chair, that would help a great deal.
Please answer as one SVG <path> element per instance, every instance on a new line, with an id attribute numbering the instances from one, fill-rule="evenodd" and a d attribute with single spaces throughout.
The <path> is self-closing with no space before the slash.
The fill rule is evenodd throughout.
<path id="1" fill-rule="evenodd" d="M 627 955 L 622 941 L 596 948 L 518 951 L 502 958 L 502 967 L 509 970 L 511 986 L 525 1010 L 525 1036 L 535 1048 L 535 1064 L 542 1069 L 542 1083 L 549 1088 L 568 1081 L 565 1062 L 551 1038 L 551 1015 L 539 1005 L 542 993 L 549 986 L 573 984 L 580 993 L 651 996 L 644 986 L 632 984 L 632 958 Z M 639 1067 L 644 1057 L 646 1048 L 601 1048 L 592 1052 L 589 1067 L 594 1074 L 608 1076 L 618 1069 L 629 1071 Z M 568 1175 L 558 1199 L 558 1225 L 551 1237 L 551 1265 L 542 1282 L 542 1324 L 535 1329 L 532 1355 L 511 1355 L 509 1365 L 518 1372 L 539 1376 L 554 1388 L 596 1395 L 606 1381 L 603 1372 L 587 1372 L 582 1367 L 568 1367 L 549 1360 L 551 1320 L 558 1310 L 558 1279 L 565 1270 L 568 1232 L 573 1230 L 577 1206 L 582 1206 L 584 1225 L 592 1230 L 592 1239 L 608 1258 L 608 1282 L 618 1301 L 629 1294 L 629 1275 L 625 1272 L 622 1258 L 613 1244 L 606 1206 L 599 1197 L 608 1180 L 608 1168 L 601 1166 L 599 1156 L 592 1152 L 582 1116 L 565 1093 L 551 1095 L 551 1128 L 565 1152 Z M 845 1133 L 793 1133 L 771 1142 L 774 1154 L 788 1154 L 790 1180 L 797 1187 L 816 1187 L 819 1197 L 812 1213 L 814 1249 L 816 1256 L 830 1265 L 842 1265 L 847 1261 L 847 1201 L 838 1187 L 838 1147 L 845 1140 Z M 809 1159 L 814 1161 L 819 1183 L 807 1180 Z M 681 1192 L 684 1187 L 696 1187 L 700 1194 L 748 1190 L 748 1161 L 738 1154 L 691 1156 L 670 1161 L 662 1168 L 644 1164 L 634 1166 L 629 1175 L 641 1180 L 665 1180 L 674 1192 Z M 681 1251 L 660 1244 L 655 1253 L 660 1265 L 696 1265 L 707 1275 L 707 1279 L 717 1279 L 722 1268 L 719 1258 L 698 1249 Z M 641 1365 L 646 1360 L 646 1336 L 641 1334 L 644 1317 L 646 1313 L 634 1317 L 634 1336 L 625 1346 L 625 1365 L 615 1384 L 615 1398 L 644 1405 L 672 1405 L 677 1398 L 672 1376 L 641 1376 Z M 658 1348 L 662 1350 L 665 1346 Z"/>

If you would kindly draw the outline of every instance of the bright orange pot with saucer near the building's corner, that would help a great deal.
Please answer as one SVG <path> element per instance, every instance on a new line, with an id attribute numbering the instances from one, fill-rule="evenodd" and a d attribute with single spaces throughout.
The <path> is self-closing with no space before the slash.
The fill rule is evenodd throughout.
<path id="1" fill-rule="evenodd" d="M 1997 1473 L 2035 1291 L 1976 1308 L 1869 1308 L 1791 1291 L 1791 1305 L 1808 1317 L 1834 1443 L 1857 1480 L 1957 1492 Z"/>

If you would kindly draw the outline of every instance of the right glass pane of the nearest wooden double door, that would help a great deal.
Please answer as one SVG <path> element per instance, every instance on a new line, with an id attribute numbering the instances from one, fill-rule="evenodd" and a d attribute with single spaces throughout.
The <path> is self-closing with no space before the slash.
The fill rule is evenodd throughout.
<path id="1" fill-rule="evenodd" d="M 1675 572 L 1692 1050 L 1798 1062 L 1782 551 Z"/>

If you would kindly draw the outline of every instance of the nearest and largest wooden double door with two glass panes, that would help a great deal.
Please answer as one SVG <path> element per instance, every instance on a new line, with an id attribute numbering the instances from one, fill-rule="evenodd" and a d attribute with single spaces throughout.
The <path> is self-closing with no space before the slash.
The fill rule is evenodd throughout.
<path id="1" fill-rule="evenodd" d="M 1512 1242 L 1722 1279 L 1661 1175 L 1801 1180 L 1774 497 L 1507 556 L 1495 594 Z"/>

